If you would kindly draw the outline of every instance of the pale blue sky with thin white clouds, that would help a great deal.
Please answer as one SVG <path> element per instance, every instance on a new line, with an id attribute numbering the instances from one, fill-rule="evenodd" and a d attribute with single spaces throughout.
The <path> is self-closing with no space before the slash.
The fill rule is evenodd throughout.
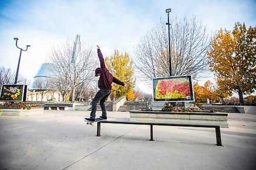
<path id="1" fill-rule="evenodd" d="M 254 1 L 11 1 L 0 0 L 0 66 L 16 71 L 19 50 L 22 53 L 19 74 L 33 79 L 37 69 L 48 58 L 53 45 L 80 34 L 82 42 L 100 45 L 104 56 L 114 50 L 133 55 L 138 40 L 159 21 L 196 16 L 208 31 L 232 30 L 237 21 L 256 25 Z M 139 83 L 142 86 L 143 83 Z"/>

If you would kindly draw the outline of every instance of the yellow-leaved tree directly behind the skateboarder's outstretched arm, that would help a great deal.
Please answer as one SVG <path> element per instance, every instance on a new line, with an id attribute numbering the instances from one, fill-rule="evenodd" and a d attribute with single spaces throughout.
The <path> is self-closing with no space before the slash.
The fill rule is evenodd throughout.
<path id="1" fill-rule="evenodd" d="M 129 84 L 129 87 L 119 86 L 112 84 L 112 93 L 115 99 L 120 98 L 122 95 L 126 95 L 130 89 L 135 85 L 135 80 L 133 79 L 133 61 L 130 60 L 128 53 L 119 54 L 118 50 L 111 57 L 105 58 L 105 64 L 108 67 L 111 74 L 120 81 Z"/>

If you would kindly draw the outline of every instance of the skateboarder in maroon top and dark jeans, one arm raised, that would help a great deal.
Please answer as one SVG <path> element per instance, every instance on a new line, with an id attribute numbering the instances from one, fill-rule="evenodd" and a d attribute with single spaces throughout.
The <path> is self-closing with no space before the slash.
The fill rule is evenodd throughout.
<path id="1" fill-rule="evenodd" d="M 112 89 L 112 82 L 119 84 L 121 86 L 128 87 L 127 83 L 123 83 L 110 73 L 110 71 L 106 68 L 104 58 L 100 51 L 100 47 L 97 45 L 98 57 L 100 61 L 100 68 L 95 69 L 95 76 L 99 76 L 98 87 L 99 91 L 96 93 L 93 101 L 92 101 L 92 111 L 89 118 L 84 118 L 89 122 L 95 122 L 96 110 L 97 110 L 97 103 L 99 102 L 102 116 L 99 116 L 101 119 L 107 119 L 106 117 L 106 108 L 104 102 L 108 99 L 108 96 L 111 93 Z"/>

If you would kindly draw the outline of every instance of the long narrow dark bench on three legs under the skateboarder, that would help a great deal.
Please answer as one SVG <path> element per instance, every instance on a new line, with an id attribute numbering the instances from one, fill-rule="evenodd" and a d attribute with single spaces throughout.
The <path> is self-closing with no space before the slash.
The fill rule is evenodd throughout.
<path id="1" fill-rule="evenodd" d="M 217 146 L 222 146 L 221 143 L 221 131 L 218 125 L 190 125 L 190 124 L 167 124 L 167 123 L 142 123 L 142 122 L 118 122 L 118 121 L 108 121 L 104 120 L 97 123 L 97 136 L 100 136 L 100 124 L 132 124 L 132 125 L 150 125 L 151 137 L 153 139 L 153 126 L 178 126 L 178 127 L 200 127 L 200 128 L 215 128 Z"/>

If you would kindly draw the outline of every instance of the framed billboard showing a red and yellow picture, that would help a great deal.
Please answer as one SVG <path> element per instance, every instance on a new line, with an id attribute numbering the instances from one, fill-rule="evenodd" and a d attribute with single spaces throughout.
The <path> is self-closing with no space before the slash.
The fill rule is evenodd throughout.
<path id="1" fill-rule="evenodd" d="M 194 91 L 191 75 L 153 78 L 154 102 L 192 102 Z"/>

